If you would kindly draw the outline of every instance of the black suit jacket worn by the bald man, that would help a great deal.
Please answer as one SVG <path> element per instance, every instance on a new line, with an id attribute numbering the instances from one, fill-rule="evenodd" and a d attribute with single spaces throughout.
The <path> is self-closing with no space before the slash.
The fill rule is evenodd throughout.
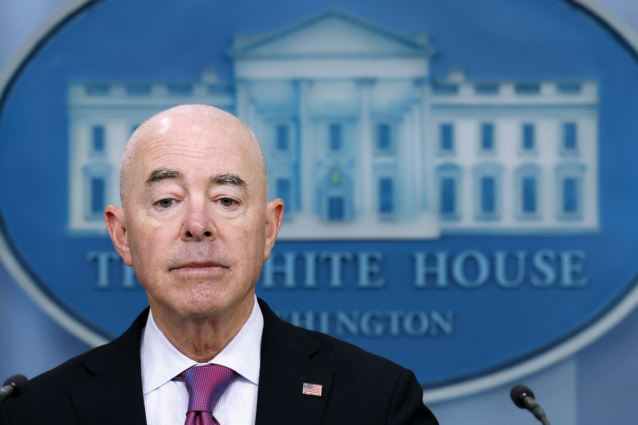
<path id="1" fill-rule="evenodd" d="M 408 369 L 279 319 L 263 301 L 257 425 L 437 424 Z M 0 425 L 146 424 L 140 332 L 146 309 L 122 336 L 29 382 L 0 407 Z M 302 384 L 322 384 L 321 396 Z"/>

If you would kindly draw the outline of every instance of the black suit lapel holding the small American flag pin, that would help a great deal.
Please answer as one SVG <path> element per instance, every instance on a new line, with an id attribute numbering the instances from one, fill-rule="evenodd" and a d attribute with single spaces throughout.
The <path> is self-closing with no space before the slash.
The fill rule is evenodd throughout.
<path id="1" fill-rule="evenodd" d="M 259 300 L 263 336 L 256 425 L 321 422 L 332 384 L 332 369 L 311 356 L 320 346 L 279 319 Z M 322 385 L 322 395 L 302 394 L 304 383 Z"/>

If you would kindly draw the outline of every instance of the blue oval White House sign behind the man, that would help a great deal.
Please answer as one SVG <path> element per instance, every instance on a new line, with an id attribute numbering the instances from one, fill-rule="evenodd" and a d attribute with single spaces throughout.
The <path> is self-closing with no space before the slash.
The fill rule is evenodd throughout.
<path id="1" fill-rule="evenodd" d="M 144 17 L 79 4 L 4 84 L 0 161 L 20 181 L 0 183 L 4 261 L 82 338 L 144 306 L 103 210 L 128 136 L 180 103 L 224 108 L 262 142 L 286 220 L 258 293 L 406 364 L 430 400 L 551 364 L 633 305 L 637 70 L 603 17 L 559 0 L 255 3 L 260 20 L 170 3 Z M 477 9 L 489 18 L 459 25 Z M 94 31 L 122 17 L 135 25 Z M 519 317 L 535 324 L 524 336 Z"/>

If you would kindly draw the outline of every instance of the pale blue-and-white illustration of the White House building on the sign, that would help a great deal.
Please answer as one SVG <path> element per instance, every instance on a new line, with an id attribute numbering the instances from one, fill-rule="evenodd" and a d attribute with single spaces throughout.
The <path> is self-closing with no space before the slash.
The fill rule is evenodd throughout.
<path id="1" fill-rule="evenodd" d="M 597 230 L 597 82 L 436 80 L 433 54 L 424 34 L 328 10 L 235 36 L 232 82 L 70 82 L 68 229 L 105 232 L 138 124 L 205 103 L 262 142 L 283 239 Z"/>

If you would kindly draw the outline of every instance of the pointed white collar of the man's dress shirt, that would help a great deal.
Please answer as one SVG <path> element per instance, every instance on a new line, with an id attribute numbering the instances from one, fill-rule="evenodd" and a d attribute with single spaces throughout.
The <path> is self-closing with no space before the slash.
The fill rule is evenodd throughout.
<path id="1" fill-rule="evenodd" d="M 263 315 L 255 296 L 253 311 L 246 323 L 230 343 L 208 363 L 221 364 L 233 369 L 253 384 L 259 385 L 262 331 Z M 189 359 L 177 350 L 155 324 L 152 311 L 149 312 L 146 327 L 142 332 L 140 357 L 144 395 L 158 389 L 191 366 L 206 364 Z"/>

